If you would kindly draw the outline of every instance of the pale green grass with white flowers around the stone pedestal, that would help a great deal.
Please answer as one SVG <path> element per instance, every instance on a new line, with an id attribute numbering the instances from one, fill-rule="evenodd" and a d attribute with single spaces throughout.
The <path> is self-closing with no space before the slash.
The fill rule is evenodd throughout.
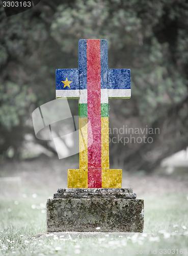
<path id="1" fill-rule="evenodd" d="M 142 236 L 36 238 L 45 232 L 46 198 L 0 201 L 0 255 L 188 255 L 186 195 L 145 197 Z M 187 229 L 185 229 L 185 227 Z"/>

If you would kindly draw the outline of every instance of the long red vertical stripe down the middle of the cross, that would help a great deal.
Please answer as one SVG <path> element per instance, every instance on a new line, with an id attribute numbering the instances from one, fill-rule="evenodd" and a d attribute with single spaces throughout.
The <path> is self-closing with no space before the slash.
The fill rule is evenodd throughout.
<path id="1" fill-rule="evenodd" d="M 87 40 L 87 91 L 89 139 L 88 147 L 88 187 L 101 187 L 101 97 L 100 97 L 100 40 Z M 92 131 L 91 131 L 92 130 Z M 92 136 L 91 136 L 92 133 Z"/>

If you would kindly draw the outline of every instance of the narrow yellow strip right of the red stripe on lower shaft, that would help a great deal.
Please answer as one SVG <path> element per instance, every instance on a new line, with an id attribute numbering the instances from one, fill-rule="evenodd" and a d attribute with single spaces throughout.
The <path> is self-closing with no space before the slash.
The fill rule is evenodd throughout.
<path id="1" fill-rule="evenodd" d="M 101 117 L 101 168 L 110 168 L 108 117 Z"/>

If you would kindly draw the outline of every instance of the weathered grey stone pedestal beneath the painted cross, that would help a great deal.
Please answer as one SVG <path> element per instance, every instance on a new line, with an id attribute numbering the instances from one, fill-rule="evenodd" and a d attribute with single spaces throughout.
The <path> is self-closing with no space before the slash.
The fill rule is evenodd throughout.
<path id="1" fill-rule="evenodd" d="M 131 188 L 59 188 L 46 203 L 47 232 L 143 232 L 136 197 Z"/>

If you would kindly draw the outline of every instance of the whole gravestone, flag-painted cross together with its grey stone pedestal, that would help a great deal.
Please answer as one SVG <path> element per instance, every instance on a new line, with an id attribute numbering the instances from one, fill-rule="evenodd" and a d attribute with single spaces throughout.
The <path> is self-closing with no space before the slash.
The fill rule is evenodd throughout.
<path id="1" fill-rule="evenodd" d="M 78 69 L 56 70 L 56 98 L 79 98 L 79 169 L 48 199 L 47 231 L 142 232 L 144 201 L 109 164 L 108 102 L 130 98 L 130 70 L 108 69 L 107 40 L 79 40 L 78 56 Z"/>

